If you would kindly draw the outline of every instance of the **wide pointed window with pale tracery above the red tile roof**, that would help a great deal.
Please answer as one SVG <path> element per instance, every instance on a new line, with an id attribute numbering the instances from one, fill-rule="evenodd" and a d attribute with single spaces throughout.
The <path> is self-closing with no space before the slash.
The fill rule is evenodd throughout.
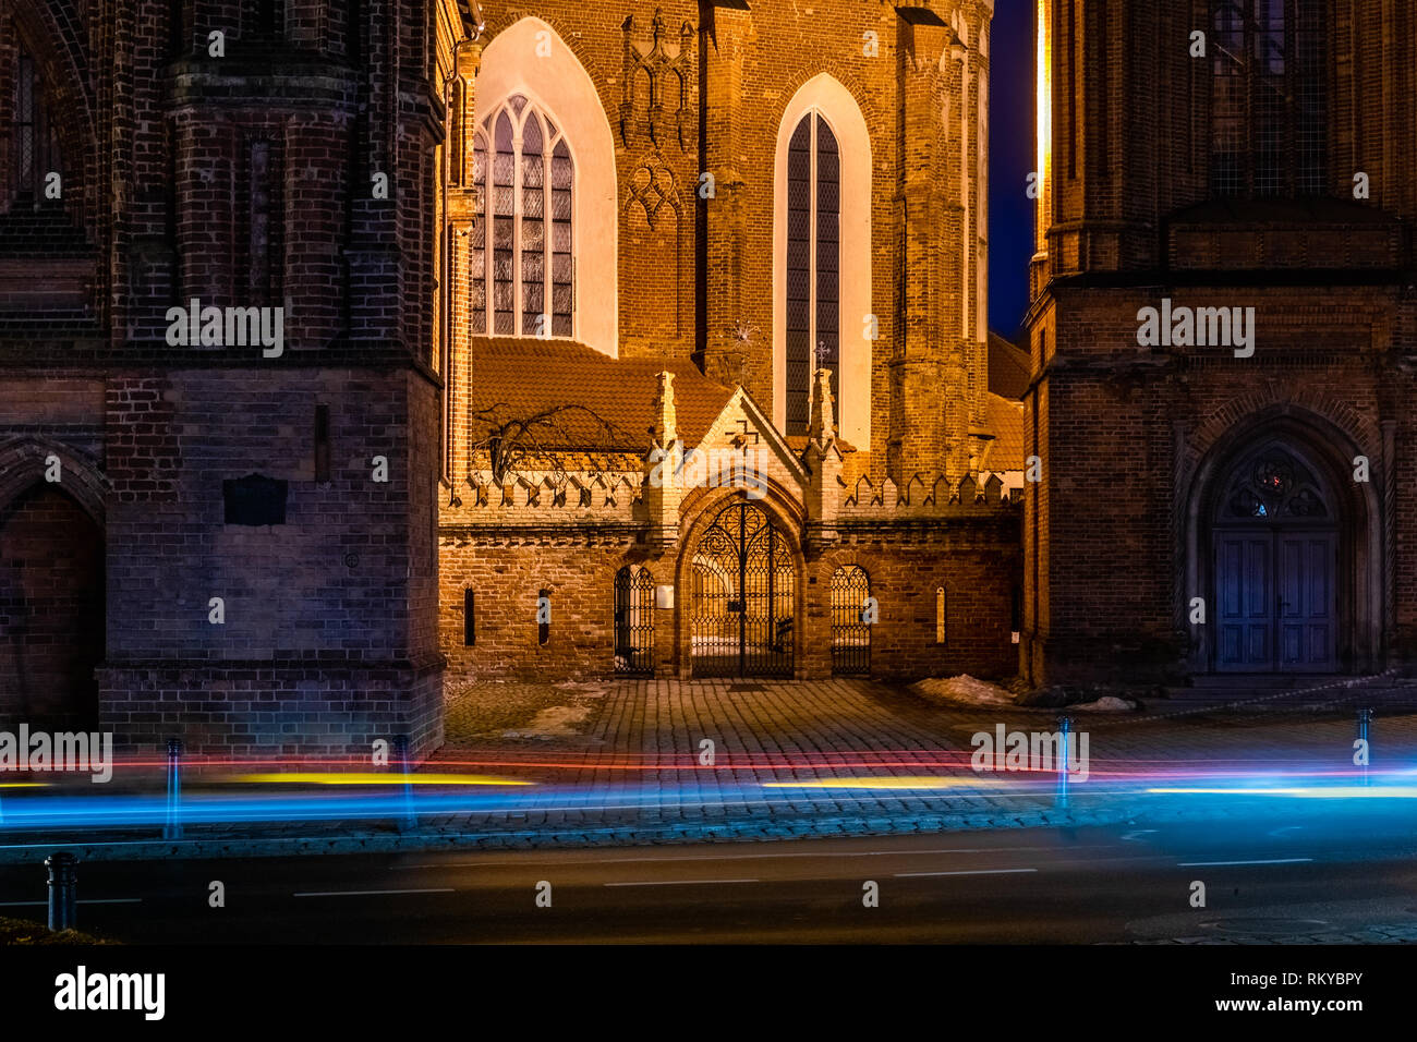
<path id="1" fill-rule="evenodd" d="M 575 162 L 557 122 L 524 95 L 473 136 L 472 332 L 572 336 Z"/>

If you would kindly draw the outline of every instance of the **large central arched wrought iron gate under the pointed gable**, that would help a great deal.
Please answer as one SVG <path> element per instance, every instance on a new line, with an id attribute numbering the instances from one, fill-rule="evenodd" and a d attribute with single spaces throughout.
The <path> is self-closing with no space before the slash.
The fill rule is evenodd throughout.
<path id="1" fill-rule="evenodd" d="M 768 515 L 733 503 L 693 559 L 694 676 L 792 676 L 792 549 Z"/>

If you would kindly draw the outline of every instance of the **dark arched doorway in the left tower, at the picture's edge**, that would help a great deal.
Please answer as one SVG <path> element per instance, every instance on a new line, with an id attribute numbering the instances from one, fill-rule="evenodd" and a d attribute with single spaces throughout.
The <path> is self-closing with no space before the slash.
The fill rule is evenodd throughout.
<path id="1" fill-rule="evenodd" d="M 96 727 L 102 659 L 102 533 L 41 482 L 0 506 L 0 719 Z"/>

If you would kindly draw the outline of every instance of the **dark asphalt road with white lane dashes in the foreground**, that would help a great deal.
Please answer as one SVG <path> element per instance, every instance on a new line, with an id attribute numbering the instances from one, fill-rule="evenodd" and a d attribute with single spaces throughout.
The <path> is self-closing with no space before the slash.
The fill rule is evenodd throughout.
<path id="1" fill-rule="evenodd" d="M 1095 943 L 1410 924 L 1403 807 L 881 839 L 79 866 L 79 927 L 129 943 Z M 220 880 L 225 907 L 211 907 Z M 1192 907 L 1192 883 L 1206 907 Z M 537 904 L 550 883 L 550 907 Z M 879 906 L 863 902 L 879 886 Z M 44 869 L 0 866 L 43 919 Z M 544 900 L 544 899 L 543 899 Z"/>

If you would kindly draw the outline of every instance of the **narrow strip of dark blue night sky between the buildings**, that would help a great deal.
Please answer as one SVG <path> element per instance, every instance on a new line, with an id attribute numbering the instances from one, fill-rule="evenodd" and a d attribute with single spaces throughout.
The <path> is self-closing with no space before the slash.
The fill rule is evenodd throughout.
<path id="1" fill-rule="evenodd" d="M 989 327 L 1013 339 L 1029 308 L 1033 7 L 996 0 L 989 79 Z"/>

